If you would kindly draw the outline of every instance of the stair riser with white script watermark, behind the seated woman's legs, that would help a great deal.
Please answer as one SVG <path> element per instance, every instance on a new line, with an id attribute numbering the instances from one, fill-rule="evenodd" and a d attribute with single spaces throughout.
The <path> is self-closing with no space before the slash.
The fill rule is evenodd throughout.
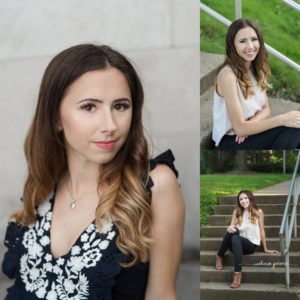
<path id="1" fill-rule="evenodd" d="M 200 265 L 204 266 L 214 266 L 216 263 L 216 254 L 204 255 L 200 253 Z M 233 266 L 233 256 L 232 254 L 225 255 L 223 259 L 224 266 Z M 267 267 L 270 268 L 270 272 L 273 267 L 284 267 L 284 258 L 281 256 L 258 256 L 255 253 L 251 255 L 243 255 L 243 266 L 250 267 Z M 298 268 L 300 267 L 300 257 L 290 256 L 290 266 Z"/>

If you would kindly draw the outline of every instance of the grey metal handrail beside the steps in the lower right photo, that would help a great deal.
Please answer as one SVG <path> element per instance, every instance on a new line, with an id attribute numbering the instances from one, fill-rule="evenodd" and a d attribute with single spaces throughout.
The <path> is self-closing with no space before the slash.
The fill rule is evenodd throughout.
<path id="1" fill-rule="evenodd" d="M 300 164 L 300 152 L 298 151 L 298 157 L 294 168 L 292 182 L 287 197 L 287 201 L 285 204 L 284 214 L 282 217 L 280 230 L 279 230 L 280 250 L 281 250 L 281 255 L 284 256 L 284 261 L 285 261 L 285 281 L 286 281 L 287 288 L 290 287 L 289 254 L 290 254 L 290 244 L 291 244 L 291 237 L 293 231 L 294 231 L 294 238 L 297 238 L 297 206 L 298 206 L 298 199 L 300 194 L 300 178 L 297 178 L 297 174 L 299 171 L 299 164 Z M 292 197 L 293 197 L 293 202 L 292 202 Z M 293 208 L 292 208 L 292 213 L 290 215 L 290 222 L 289 222 L 289 209 L 291 205 Z"/>

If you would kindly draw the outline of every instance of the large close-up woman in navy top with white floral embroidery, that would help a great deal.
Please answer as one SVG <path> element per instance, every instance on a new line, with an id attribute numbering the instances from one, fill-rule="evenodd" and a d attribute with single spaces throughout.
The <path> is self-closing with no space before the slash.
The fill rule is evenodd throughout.
<path id="1" fill-rule="evenodd" d="M 172 153 L 149 159 L 142 106 L 133 66 L 108 46 L 50 62 L 5 238 L 6 300 L 176 299 L 183 198 Z"/>

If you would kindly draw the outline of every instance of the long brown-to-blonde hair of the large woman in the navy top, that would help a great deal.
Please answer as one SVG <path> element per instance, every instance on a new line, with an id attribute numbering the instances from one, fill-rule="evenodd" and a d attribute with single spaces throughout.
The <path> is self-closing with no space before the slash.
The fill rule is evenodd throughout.
<path id="1" fill-rule="evenodd" d="M 140 261 L 151 243 L 150 199 L 146 190 L 149 154 L 142 125 L 144 101 L 140 79 L 128 59 L 108 46 L 82 44 L 59 53 L 45 70 L 36 112 L 25 140 L 28 175 L 23 208 L 13 217 L 23 226 L 36 219 L 36 206 L 45 201 L 67 169 L 64 137 L 57 129 L 59 108 L 68 87 L 93 70 L 116 68 L 125 76 L 132 97 L 128 138 L 112 161 L 101 166 L 101 198 L 96 209 L 97 227 L 112 219 L 117 226 L 118 248 L 130 254 L 127 266 Z M 100 167 L 100 166 L 99 166 Z"/>

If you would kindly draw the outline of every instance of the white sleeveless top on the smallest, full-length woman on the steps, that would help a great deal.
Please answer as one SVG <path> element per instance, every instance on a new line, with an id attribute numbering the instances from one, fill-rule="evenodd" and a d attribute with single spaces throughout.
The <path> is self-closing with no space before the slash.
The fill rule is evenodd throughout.
<path id="1" fill-rule="evenodd" d="M 247 209 L 243 212 L 242 224 L 236 226 L 240 231 L 240 236 L 245 237 L 251 243 L 255 245 L 260 245 L 260 231 L 258 226 L 258 219 L 256 219 L 255 224 L 251 223 L 249 220 L 249 212 Z"/>

